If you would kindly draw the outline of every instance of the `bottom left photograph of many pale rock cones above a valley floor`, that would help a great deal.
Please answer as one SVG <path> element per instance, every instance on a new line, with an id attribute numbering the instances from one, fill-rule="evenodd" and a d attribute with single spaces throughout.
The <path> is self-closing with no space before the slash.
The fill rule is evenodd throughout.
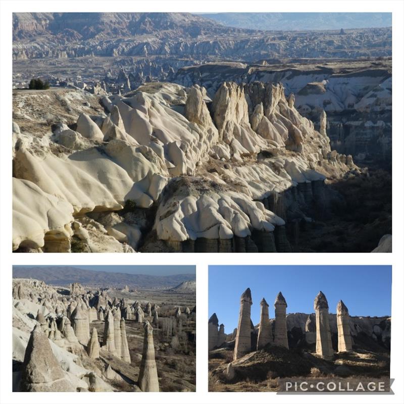
<path id="1" fill-rule="evenodd" d="M 14 266 L 13 391 L 195 391 L 195 266 Z"/>

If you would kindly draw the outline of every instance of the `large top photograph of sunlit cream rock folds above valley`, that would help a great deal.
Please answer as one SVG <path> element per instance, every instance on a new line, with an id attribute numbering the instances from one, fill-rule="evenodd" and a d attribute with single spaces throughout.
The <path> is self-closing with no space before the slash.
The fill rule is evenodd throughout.
<path id="1" fill-rule="evenodd" d="M 391 13 L 14 13 L 14 252 L 391 252 Z"/>

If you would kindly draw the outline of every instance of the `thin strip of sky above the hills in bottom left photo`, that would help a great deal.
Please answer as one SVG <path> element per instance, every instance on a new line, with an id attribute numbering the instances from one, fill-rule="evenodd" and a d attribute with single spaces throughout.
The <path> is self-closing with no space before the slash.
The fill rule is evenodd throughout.
<path id="1" fill-rule="evenodd" d="M 66 265 L 63 265 L 66 266 Z M 69 265 L 73 268 L 85 269 L 87 271 L 105 271 L 120 272 L 123 274 L 142 274 L 142 275 L 178 275 L 194 274 L 194 265 Z M 55 267 L 55 265 L 15 265 L 18 267 Z"/>

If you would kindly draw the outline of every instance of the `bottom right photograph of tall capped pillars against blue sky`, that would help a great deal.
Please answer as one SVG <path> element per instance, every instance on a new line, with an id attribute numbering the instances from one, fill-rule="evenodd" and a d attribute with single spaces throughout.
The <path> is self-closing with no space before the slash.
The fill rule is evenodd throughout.
<path id="1" fill-rule="evenodd" d="M 391 266 L 209 266 L 209 391 L 390 391 Z"/>

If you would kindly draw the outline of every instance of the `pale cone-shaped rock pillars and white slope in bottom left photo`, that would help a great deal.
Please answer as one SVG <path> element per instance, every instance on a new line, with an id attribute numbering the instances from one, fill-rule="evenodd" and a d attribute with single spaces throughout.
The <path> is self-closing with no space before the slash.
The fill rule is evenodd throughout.
<path id="1" fill-rule="evenodd" d="M 135 301 L 132 306 L 124 298 L 111 299 L 106 290 L 94 292 L 80 290 L 80 287 L 72 284 L 69 295 L 65 295 L 44 282 L 13 280 L 13 359 L 24 361 L 21 383 L 18 380 L 18 386 L 13 388 L 18 391 L 116 390 L 108 380 L 124 382 L 124 379 L 114 370 L 115 365 L 122 361 L 119 369 L 123 362 L 131 363 L 122 312 L 132 313 L 133 309 L 143 313 L 143 307 L 150 318 L 154 315 L 157 326 L 161 326 L 157 304 Z M 181 323 L 187 321 L 195 309 L 191 312 L 186 307 L 182 313 L 177 308 L 178 311 Z M 105 319 L 98 320 L 97 313 L 105 314 Z M 102 346 L 95 328 L 97 324 L 91 325 L 92 321 L 104 322 Z M 172 344 L 175 339 L 179 343 L 175 331 L 179 323 L 174 322 Z M 221 327 L 218 340 L 224 337 L 224 328 Z M 100 369 L 100 364 L 103 364 L 103 369 Z M 159 391 L 153 328 L 148 321 L 144 323 L 138 384 L 142 391 Z M 136 387 L 135 391 L 140 390 Z"/>

